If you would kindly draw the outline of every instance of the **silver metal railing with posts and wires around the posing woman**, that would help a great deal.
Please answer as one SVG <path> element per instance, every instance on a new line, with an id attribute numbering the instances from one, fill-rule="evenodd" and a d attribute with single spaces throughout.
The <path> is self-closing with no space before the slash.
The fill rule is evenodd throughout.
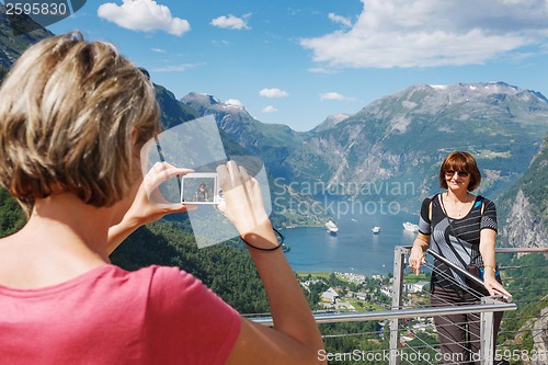
<path id="1" fill-rule="evenodd" d="M 479 305 L 469 305 L 469 306 L 446 306 L 446 307 L 424 307 L 424 308 L 407 308 L 403 306 L 403 282 L 404 282 L 404 270 L 406 258 L 409 254 L 410 247 L 396 247 L 395 248 L 395 261 L 393 261 L 393 280 L 392 280 L 392 288 L 391 288 L 391 308 L 388 310 L 381 311 L 368 311 L 368 312 L 334 312 L 334 313 L 316 313 L 315 318 L 318 323 L 344 323 L 344 322 L 363 322 L 363 321 L 389 321 L 390 323 L 390 332 L 389 332 L 389 349 L 387 349 L 388 356 L 386 356 L 388 364 L 398 365 L 400 361 L 403 358 L 403 350 L 410 354 L 420 354 L 421 349 L 412 347 L 407 345 L 402 350 L 401 333 L 406 331 L 406 323 L 403 320 L 414 319 L 418 317 L 421 318 L 431 318 L 434 316 L 450 316 L 450 315 L 460 315 L 460 313 L 480 313 L 480 353 L 479 353 L 479 363 L 484 365 L 493 364 L 493 354 L 499 353 L 499 349 L 504 349 L 501 354 L 515 354 L 515 351 L 506 350 L 512 344 L 509 341 L 503 341 L 498 344 L 498 347 L 494 349 L 494 339 L 493 339 L 493 316 L 494 312 L 500 311 L 516 311 L 518 309 L 518 305 L 522 303 L 520 300 L 515 300 L 513 303 L 505 303 L 501 300 L 503 298 L 499 296 L 494 297 L 483 297 L 481 298 L 481 304 Z M 496 253 L 509 253 L 509 254 L 524 254 L 524 253 L 546 253 L 548 249 L 512 249 L 512 248 L 498 248 Z M 513 267 L 506 266 L 504 270 L 511 271 L 515 269 L 522 269 L 522 266 Z M 463 271 L 463 275 L 470 275 L 468 272 Z M 505 281 L 517 281 L 520 277 L 505 277 Z M 514 293 L 512 293 L 514 294 Z M 547 293 L 548 294 L 548 293 Z M 548 295 L 547 295 L 548 298 Z M 548 306 L 548 305 L 547 305 Z M 546 310 L 545 316 L 548 316 L 548 309 Z M 521 317 L 518 317 L 521 318 Z M 270 317 L 258 317 L 252 319 L 255 322 L 273 326 L 272 318 Z M 529 326 L 533 331 L 533 324 Z M 518 331 L 524 331 L 524 329 L 520 329 Z M 518 332 L 514 331 L 514 332 Z M 541 335 L 546 335 L 546 328 L 537 329 L 535 337 L 540 338 Z M 370 332 L 369 332 L 370 333 Z M 499 333 L 499 338 L 501 335 L 506 335 L 510 332 L 501 331 Z M 346 334 L 333 334 L 333 335 L 324 335 L 324 338 L 338 338 L 338 337 L 352 337 L 352 335 L 363 335 L 367 333 L 346 333 Z M 432 345 L 424 343 L 424 349 L 429 351 L 433 351 L 439 354 L 439 351 Z M 406 361 L 406 358 L 403 358 Z M 372 363 L 381 363 L 381 362 L 372 362 Z M 410 364 L 441 364 L 439 358 L 436 361 L 425 361 L 425 362 L 412 362 L 407 360 L 407 363 Z M 515 364 L 527 364 L 526 362 L 516 362 Z M 460 362 L 455 362 L 455 364 L 460 364 Z M 535 364 L 535 363 L 530 363 Z M 541 364 L 541 363 L 538 363 Z"/>

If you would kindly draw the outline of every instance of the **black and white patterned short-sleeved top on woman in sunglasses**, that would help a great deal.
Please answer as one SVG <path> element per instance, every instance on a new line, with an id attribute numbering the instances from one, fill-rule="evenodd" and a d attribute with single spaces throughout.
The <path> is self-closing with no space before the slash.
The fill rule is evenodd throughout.
<path id="1" fill-rule="evenodd" d="M 432 220 L 429 217 L 431 204 Z M 448 219 L 450 219 L 450 226 Z M 464 270 L 466 270 L 466 265 L 458 260 L 455 251 L 466 264 L 476 263 L 483 267 L 479 252 L 482 229 L 496 231 L 498 225 L 494 203 L 481 195 L 476 197 L 470 212 L 458 219 L 447 218 L 441 204 L 439 194 L 427 197 L 422 203 L 419 231 L 430 236 L 430 248 L 433 251 Z M 438 260 L 434 261 L 432 284 L 453 289 L 466 288 L 464 276 Z"/>

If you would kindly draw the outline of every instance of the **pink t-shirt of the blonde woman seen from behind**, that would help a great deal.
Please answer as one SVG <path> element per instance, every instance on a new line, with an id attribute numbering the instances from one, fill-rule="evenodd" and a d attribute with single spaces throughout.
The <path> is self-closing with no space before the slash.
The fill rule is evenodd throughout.
<path id="1" fill-rule="evenodd" d="M 224 364 L 239 333 L 239 313 L 176 267 L 0 286 L 2 364 Z"/>

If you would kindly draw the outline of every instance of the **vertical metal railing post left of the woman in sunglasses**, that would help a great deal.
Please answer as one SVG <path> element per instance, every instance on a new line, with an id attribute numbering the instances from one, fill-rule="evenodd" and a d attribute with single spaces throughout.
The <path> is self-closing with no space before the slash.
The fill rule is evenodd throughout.
<path id="1" fill-rule="evenodd" d="M 401 293 L 403 289 L 403 267 L 404 258 L 408 249 L 397 246 L 393 249 L 393 281 L 392 281 L 392 310 L 401 309 Z M 399 364 L 398 346 L 400 343 L 400 320 L 398 318 L 390 320 L 390 365 Z"/>

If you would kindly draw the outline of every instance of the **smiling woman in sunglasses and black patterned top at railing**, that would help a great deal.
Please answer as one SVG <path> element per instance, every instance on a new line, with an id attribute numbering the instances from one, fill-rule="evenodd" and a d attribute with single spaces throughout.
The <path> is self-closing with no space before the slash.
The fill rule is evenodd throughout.
<path id="1" fill-rule="evenodd" d="M 435 260 L 432 273 L 432 306 L 470 305 L 495 290 L 511 296 L 500 283 L 495 264 L 496 210 L 494 203 L 473 195 L 481 181 L 475 158 L 468 152 L 453 152 L 439 169 L 439 185 L 445 192 L 424 199 L 419 235 L 413 242 L 409 265 L 419 274 L 425 263 L 424 251 L 431 247 L 439 255 L 466 270 L 477 264 L 483 273 L 484 289 L 473 289 L 464 275 Z M 495 313 L 494 337 L 502 312 Z M 479 364 L 479 315 L 434 318 L 445 363 Z"/>

